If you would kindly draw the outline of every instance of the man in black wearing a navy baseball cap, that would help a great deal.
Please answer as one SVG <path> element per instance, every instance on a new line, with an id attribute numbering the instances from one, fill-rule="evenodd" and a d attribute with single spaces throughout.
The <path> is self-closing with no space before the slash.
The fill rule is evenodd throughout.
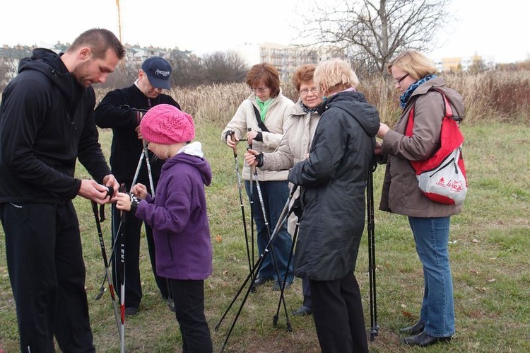
<path id="1" fill-rule="evenodd" d="M 95 123 L 98 127 L 112 128 L 112 146 L 110 152 L 110 166 L 112 173 L 120 183 L 124 183 L 126 190 L 130 190 L 132 183 L 142 183 L 151 185 L 153 182 L 154 191 L 163 161 L 154 158 L 150 151 L 148 163 L 151 171 L 147 168 L 147 161 L 143 158 L 143 140 L 139 133 L 139 124 L 143 114 L 150 108 L 158 104 L 170 104 L 180 109 L 180 105 L 171 96 L 163 94 L 163 89 L 170 88 L 171 65 L 161 57 L 150 57 L 146 59 L 139 70 L 138 79 L 126 88 L 120 88 L 107 93 L 101 100 L 98 108 L 95 109 Z M 142 156 L 142 157 L 141 157 Z M 141 159 L 142 158 L 142 159 Z M 140 160 L 140 162 L 139 162 Z M 140 164 L 141 163 L 141 164 Z M 140 165 L 139 172 L 136 173 Z M 151 173 L 151 175 L 149 175 Z M 135 178 L 136 177 L 136 178 Z M 136 180 L 135 180 L 136 179 Z M 151 195 L 155 192 L 151 190 Z M 112 228 L 119 227 L 119 210 L 112 205 Z M 125 234 L 125 313 L 135 315 L 138 313 L 140 301 L 142 299 L 141 279 L 140 279 L 140 233 L 142 221 L 133 214 L 127 217 L 122 224 Z M 167 281 L 156 274 L 155 244 L 153 241 L 153 231 L 147 225 L 146 238 L 151 257 L 151 267 L 155 275 L 155 281 L 160 289 L 163 298 L 167 300 L 171 310 L 174 310 Z M 114 235 L 115 236 L 115 235 Z M 113 241 L 114 241 L 113 236 Z M 115 248 L 114 259 L 119 259 L 119 248 Z M 119 269 L 117 261 L 112 266 L 112 277 L 114 287 L 118 289 L 117 278 Z"/>

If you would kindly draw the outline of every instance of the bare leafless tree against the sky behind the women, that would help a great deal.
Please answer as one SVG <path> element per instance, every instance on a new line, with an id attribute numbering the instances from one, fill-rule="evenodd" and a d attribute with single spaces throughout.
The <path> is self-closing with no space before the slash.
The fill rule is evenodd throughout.
<path id="1" fill-rule="evenodd" d="M 340 47 L 356 70 L 384 73 L 391 57 L 406 49 L 430 51 L 449 15 L 451 0 L 342 0 L 334 8 L 305 12 L 300 38 Z"/>

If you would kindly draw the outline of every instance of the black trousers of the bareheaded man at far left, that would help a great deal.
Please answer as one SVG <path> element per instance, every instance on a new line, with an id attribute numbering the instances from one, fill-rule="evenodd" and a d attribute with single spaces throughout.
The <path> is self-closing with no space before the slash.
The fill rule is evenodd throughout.
<path id="1" fill-rule="evenodd" d="M 89 201 L 87 201 L 89 202 Z M 76 211 L 64 204 L 0 204 L 21 352 L 95 352 Z"/>

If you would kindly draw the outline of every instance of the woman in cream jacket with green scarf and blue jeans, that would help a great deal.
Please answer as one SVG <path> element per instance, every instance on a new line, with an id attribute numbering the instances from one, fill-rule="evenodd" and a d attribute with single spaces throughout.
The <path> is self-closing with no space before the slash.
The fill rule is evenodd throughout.
<path id="1" fill-rule="evenodd" d="M 231 149 L 237 148 L 237 141 L 246 139 L 248 146 L 255 151 L 273 152 L 285 133 L 288 117 L 295 103 L 282 95 L 280 75 L 272 64 L 252 66 L 247 73 L 246 82 L 252 93 L 237 108 L 221 137 Z M 245 163 L 242 173 L 247 195 L 252 200 L 259 255 L 264 255 L 253 284 L 254 287 L 259 287 L 274 281 L 273 290 L 279 291 L 285 277 L 285 288 L 290 287 L 294 279 L 293 262 L 287 267 L 293 241 L 286 223 L 277 232 L 268 249 L 271 251 L 264 252 L 289 197 L 288 170 L 254 170 L 253 172 Z"/>

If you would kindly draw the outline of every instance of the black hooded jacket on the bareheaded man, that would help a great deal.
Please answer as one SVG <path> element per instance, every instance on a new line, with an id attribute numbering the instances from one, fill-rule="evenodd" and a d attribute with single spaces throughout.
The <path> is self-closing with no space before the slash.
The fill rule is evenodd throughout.
<path id="1" fill-rule="evenodd" d="M 110 174 L 94 105 L 93 88 L 80 86 L 51 50 L 20 60 L 0 106 L 0 202 L 73 199 L 76 158 L 98 182 Z"/>

